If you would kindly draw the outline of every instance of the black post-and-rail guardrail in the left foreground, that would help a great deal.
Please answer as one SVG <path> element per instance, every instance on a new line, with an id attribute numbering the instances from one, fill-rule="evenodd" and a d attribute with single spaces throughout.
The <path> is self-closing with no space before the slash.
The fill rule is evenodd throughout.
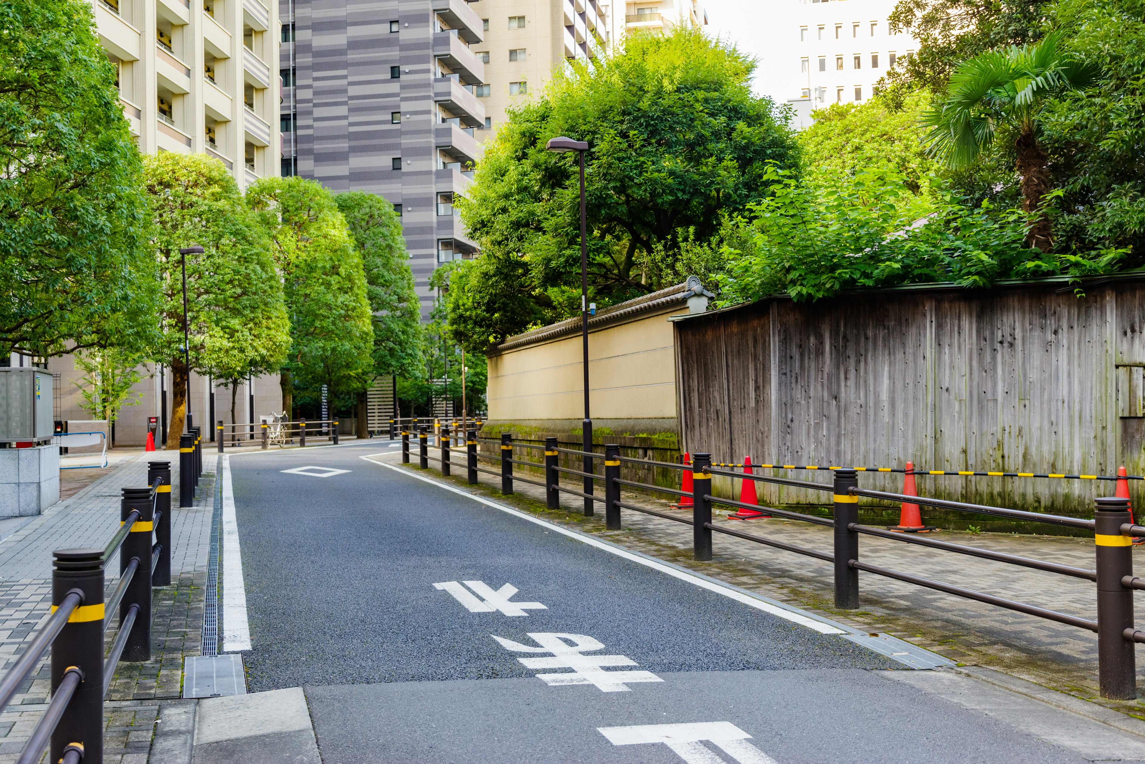
<path id="1" fill-rule="evenodd" d="M 52 648 L 52 699 L 18 764 L 35 764 L 46 746 L 50 762 L 102 764 L 103 699 L 116 668 L 151 659 L 151 588 L 171 584 L 171 463 L 148 463 L 148 482 L 123 489 L 120 528 L 104 549 L 53 552 L 52 615 L 0 678 L 3 708 Z M 104 568 L 117 552 L 119 584 L 105 602 Z M 117 609 L 118 633 L 104 661 L 103 635 Z"/>

